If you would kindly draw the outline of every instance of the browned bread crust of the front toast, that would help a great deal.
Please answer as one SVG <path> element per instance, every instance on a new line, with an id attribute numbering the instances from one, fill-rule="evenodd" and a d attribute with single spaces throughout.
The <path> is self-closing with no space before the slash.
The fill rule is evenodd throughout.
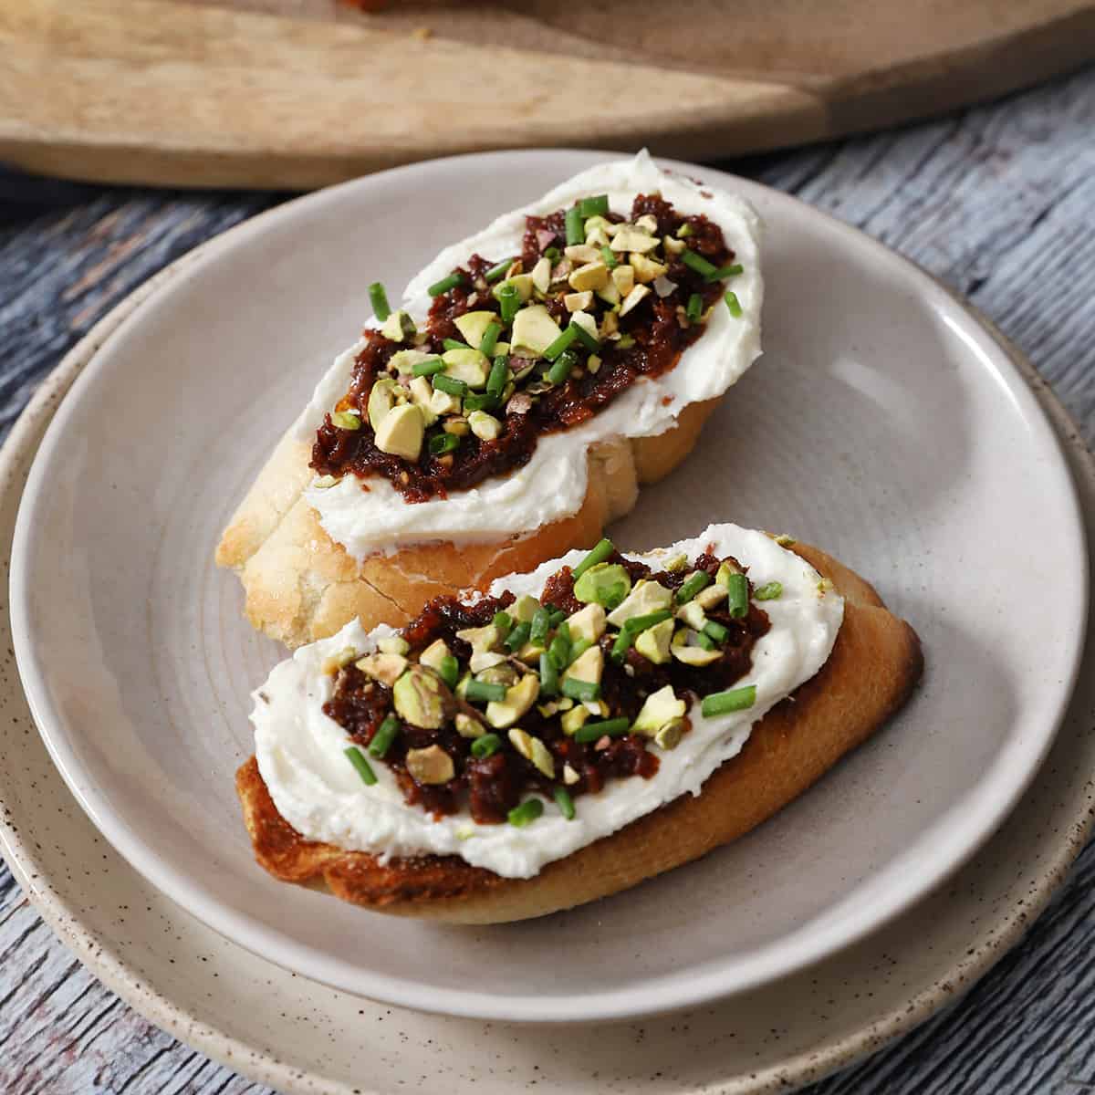
<path id="1" fill-rule="evenodd" d="M 920 679 L 915 632 L 875 590 L 823 552 L 793 549 L 844 597 L 844 622 L 821 670 L 753 727 L 741 752 L 698 796 L 682 795 L 535 877 L 503 878 L 457 856 L 393 858 L 304 840 L 278 814 L 252 757 L 237 791 L 255 858 L 286 881 L 325 884 L 379 912 L 486 924 L 573 908 L 699 858 L 771 817 L 878 729 Z"/>

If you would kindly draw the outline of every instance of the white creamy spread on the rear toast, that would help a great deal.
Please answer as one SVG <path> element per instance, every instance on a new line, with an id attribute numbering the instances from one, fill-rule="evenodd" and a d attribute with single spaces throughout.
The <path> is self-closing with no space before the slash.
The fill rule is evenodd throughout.
<path id="1" fill-rule="evenodd" d="M 417 323 L 430 306 L 427 287 L 477 252 L 487 257 L 519 253 L 528 215 L 542 216 L 577 198 L 608 194 L 610 207 L 627 211 L 636 194 L 660 192 L 678 212 L 703 214 L 723 230 L 726 244 L 744 273 L 733 288 L 741 304 L 735 316 L 716 307 L 704 334 L 681 355 L 676 367 L 656 378 L 642 378 L 588 422 L 539 438 L 532 459 L 505 476 L 447 498 L 408 504 L 388 480 L 373 476 L 368 491 L 355 475 L 323 488 L 313 480 L 304 498 L 332 540 L 355 558 L 393 553 L 415 542 L 489 542 L 529 534 L 578 511 L 586 497 L 585 453 L 616 437 L 662 434 L 690 403 L 722 395 L 760 356 L 760 313 L 764 286 L 760 269 L 760 220 L 742 198 L 662 171 L 645 152 L 583 171 L 538 201 L 505 214 L 476 235 L 446 247 L 406 287 L 396 306 Z M 376 323 L 374 318 L 369 324 Z M 320 381 L 297 424 L 298 437 L 311 443 L 323 416 L 345 394 L 360 344 L 341 354 Z"/>

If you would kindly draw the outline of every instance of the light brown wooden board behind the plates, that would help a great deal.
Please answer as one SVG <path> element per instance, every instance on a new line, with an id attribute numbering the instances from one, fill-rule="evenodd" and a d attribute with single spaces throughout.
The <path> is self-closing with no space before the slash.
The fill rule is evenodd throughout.
<path id="1" fill-rule="evenodd" d="M 370 13 L 5 0 L 0 159 L 284 188 L 487 148 L 710 160 L 925 116 L 1092 57 L 1095 0 L 389 0 Z"/>

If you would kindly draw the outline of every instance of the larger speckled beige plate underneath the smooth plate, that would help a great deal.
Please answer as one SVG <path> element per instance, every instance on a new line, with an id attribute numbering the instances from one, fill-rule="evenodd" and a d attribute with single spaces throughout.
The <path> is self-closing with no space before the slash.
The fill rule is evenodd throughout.
<path id="1" fill-rule="evenodd" d="M 217 246 L 212 244 L 211 246 Z M 0 543 L 57 403 L 102 341 L 193 256 L 119 306 L 43 385 L 0 456 Z M 1095 468 L 1034 370 L 1095 531 Z M 10 641 L 7 612 L 0 647 Z M 0 842 L 32 901 L 142 1014 L 285 1092 L 785 1091 L 876 1048 L 968 988 L 1021 936 L 1081 848 L 1095 771 L 1095 658 L 1041 776 L 945 888 L 854 948 L 717 1007 L 644 1024 L 560 1030 L 446 1019 L 371 1004 L 287 973 L 164 898 L 99 837 L 35 731 L 11 655 L 0 672 Z M 245 1006 L 241 1006 L 245 1001 Z"/>

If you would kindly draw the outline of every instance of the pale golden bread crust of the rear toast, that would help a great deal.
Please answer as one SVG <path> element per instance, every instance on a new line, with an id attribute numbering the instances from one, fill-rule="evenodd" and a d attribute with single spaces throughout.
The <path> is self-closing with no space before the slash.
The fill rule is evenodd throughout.
<path id="1" fill-rule="evenodd" d="M 309 445 L 290 430 L 240 504 L 217 548 L 217 563 L 240 575 L 252 625 L 289 647 L 333 635 L 360 618 L 402 626 L 441 593 L 483 587 L 531 570 L 572 548 L 595 543 L 635 505 L 639 483 L 668 475 L 692 451 L 716 400 L 689 404 L 656 437 L 616 438 L 589 453 L 581 509 L 535 532 L 493 543 L 426 543 L 360 565 L 323 530 L 302 492 L 312 477 Z"/>

